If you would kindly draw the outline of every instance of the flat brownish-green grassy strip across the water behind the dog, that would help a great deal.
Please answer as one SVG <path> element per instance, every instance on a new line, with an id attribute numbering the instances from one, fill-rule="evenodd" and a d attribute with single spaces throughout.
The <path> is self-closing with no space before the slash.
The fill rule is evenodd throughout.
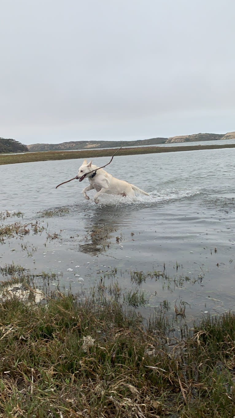
<path id="1" fill-rule="evenodd" d="M 225 145 L 185 145 L 171 147 L 140 147 L 122 148 L 117 155 L 135 155 L 150 153 L 169 153 L 176 151 L 214 150 L 220 148 L 235 148 L 235 144 Z M 0 165 L 15 163 L 30 163 L 33 161 L 69 160 L 73 158 L 97 158 L 112 156 L 117 149 L 83 150 L 83 151 L 48 151 L 41 153 L 9 154 L 0 155 Z"/>

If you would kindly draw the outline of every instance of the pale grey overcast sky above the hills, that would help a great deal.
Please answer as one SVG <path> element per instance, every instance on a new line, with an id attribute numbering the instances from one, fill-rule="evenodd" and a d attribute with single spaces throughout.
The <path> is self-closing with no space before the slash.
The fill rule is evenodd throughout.
<path id="1" fill-rule="evenodd" d="M 0 0 L 0 136 L 235 130 L 234 0 Z"/>

